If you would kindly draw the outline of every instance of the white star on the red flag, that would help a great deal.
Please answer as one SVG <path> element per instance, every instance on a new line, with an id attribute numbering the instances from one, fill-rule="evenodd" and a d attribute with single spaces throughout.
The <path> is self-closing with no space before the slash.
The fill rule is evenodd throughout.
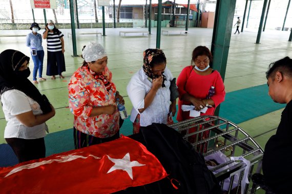
<path id="1" fill-rule="evenodd" d="M 108 155 L 107 155 L 108 156 Z M 143 166 L 145 164 L 140 164 L 138 161 L 130 161 L 130 154 L 127 153 L 126 155 L 124 155 L 124 157 L 122 159 L 114 159 L 111 158 L 110 156 L 108 156 L 108 158 L 115 163 L 115 165 L 113 165 L 109 171 L 107 172 L 107 174 L 115 171 L 116 169 L 122 169 L 123 171 L 126 171 L 128 173 L 128 175 L 130 176 L 130 178 L 133 180 L 133 171 L 132 171 L 132 167 L 134 166 Z"/>

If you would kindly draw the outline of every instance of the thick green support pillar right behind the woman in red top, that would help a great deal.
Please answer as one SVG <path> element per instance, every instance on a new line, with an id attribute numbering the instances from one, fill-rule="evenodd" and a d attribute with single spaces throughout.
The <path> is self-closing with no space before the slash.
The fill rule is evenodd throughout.
<path id="1" fill-rule="evenodd" d="M 213 30 L 211 52 L 213 55 L 213 69 L 218 70 L 224 81 L 226 64 L 230 46 L 235 0 L 217 0 L 215 15 L 216 29 Z M 220 10 L 220 11 L 219 11 Z M 218 106 L 215 115 L 219 115 Z"/>

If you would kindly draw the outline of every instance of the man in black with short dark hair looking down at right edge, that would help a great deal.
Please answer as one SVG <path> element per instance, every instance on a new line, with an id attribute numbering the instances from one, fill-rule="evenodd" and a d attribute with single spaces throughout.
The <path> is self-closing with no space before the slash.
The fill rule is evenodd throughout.
<path id="1" fill-rule="evenodd" d="M 263 156 L 265 183 L 276 193 L 290 193 L 292 186 L 292 59 L 285 57 L 269 65 L 268 94 L 274 102 L 287 104 L 275 135 L 269 138 Z"/>

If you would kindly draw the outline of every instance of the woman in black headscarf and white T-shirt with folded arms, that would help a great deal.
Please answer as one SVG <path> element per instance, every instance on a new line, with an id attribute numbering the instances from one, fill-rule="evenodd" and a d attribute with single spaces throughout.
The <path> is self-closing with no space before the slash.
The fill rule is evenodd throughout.
<path id="1" fill-rule="evenodd" d="M 19 51 L 0 54 L 0 96 L 7 121 L 4 138 L 19 162 L 46 156 L 45 122 L 55 115 L 46 96 L 27 79 L 28 65 L 29 57 Z"/>

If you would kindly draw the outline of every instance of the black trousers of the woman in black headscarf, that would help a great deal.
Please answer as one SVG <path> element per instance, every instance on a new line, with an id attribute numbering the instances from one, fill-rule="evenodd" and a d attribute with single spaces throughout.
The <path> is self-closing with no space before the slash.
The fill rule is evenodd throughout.
<path id="1" fill-rule="evenodd" d="M 46 157 L 45 139 L 5 138 L 19 163 Z"/>

